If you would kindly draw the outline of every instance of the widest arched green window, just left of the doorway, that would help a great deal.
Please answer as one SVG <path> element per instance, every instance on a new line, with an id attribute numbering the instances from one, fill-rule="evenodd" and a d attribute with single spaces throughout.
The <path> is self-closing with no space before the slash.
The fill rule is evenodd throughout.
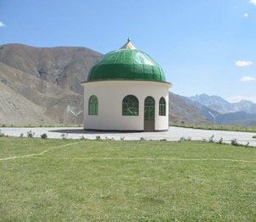
<path id="1" fill-rule="evenodd" d="M 124 97 L 122 105 L 123 115 L 139 115 L 139 101 L 136 96 L 129 95 Z"/>

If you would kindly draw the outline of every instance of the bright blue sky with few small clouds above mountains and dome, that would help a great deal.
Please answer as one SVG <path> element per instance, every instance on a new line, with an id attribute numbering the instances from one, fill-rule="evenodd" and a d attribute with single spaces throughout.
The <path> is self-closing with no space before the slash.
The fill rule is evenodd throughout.
<path id="1" fill-rule="evenodd" d="M 0 44 L 108 53 L 128 36 L 171 92 L 256 103 L 256 0 L 0 0 Z"/>

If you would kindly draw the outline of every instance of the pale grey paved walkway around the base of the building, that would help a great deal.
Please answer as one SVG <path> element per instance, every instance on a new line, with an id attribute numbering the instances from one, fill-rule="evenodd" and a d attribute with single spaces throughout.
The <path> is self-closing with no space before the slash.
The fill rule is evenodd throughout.
<path id="1" fill-rule="evenodd" d="M 242 144 L 249 144 L 256 147 L 256 133 L 250 132 L 234 132 L 224 130 L 196 130 L 181 127 L 171 126 L 168 131 L 164 132 L 105 132 L 105 131 L 86 131 L 82 128 L 70 128 L 70 127 L 56 127 L 56 128 L 8 128 L 0 127 L 0 130 L 4 135 L 8 136 L 20 136 L 27 135 L 27 131 L 31 130 L 35 133 L 35 137 L 40 137 L 43 133 L 46 133 L 48 138 L 62 138 L 63 136 L 69 139 L 80 139 L 84 136 L 87 139 L 95 139 L 96 136 L 100 136 L 101 139 L 114 139 L 120 140 L 140 140 L 142 137 L 146 140 L 163 140 L 179 141 L 181 137 L 191 138 L 192 140 L 209 140 L 210 136 L 214 135 L 214 140 L 220 140 L 223 138 L 224 142 L 231 142 L 232 139 L 237 139 L 237 142 Z"/>

